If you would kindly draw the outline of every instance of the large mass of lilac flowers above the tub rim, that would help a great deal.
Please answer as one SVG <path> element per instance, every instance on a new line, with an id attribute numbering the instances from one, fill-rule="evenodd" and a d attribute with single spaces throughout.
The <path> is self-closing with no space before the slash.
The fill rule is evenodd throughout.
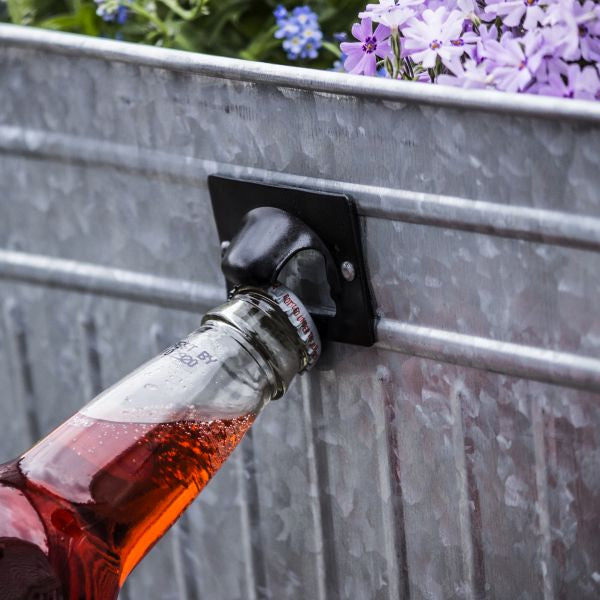
<path id="1" fill-rule="evenodd" d="M 594 0 L 380 0 L 359 17 L 347 72 L 600 99 Z"/>

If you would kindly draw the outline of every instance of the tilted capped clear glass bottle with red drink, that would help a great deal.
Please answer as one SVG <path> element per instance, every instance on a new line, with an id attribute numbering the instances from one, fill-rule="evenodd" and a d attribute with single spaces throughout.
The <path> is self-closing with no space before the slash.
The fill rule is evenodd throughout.
<path id="1" fill-rule="evenodd" d="M 291 292 L 241 289 L 0 466 L 0 598 L 116 598 L 258 413 L 319 353 Z"/>

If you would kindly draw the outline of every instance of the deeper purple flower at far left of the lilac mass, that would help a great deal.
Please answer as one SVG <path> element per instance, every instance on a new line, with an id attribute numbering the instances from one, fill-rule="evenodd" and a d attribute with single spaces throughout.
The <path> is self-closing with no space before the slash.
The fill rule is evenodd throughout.
<path id="1" fill-rule="evenodd" d="M 358 42 L 343 42 L 340 49 L 347 58 L 344 68 L 348 73 L 375 75 L 377 72 L 377 57 L 385 58 L 392 48 L 388 41 L 390 29 L 378 25 L 373 31 L 371 19 L 362 19 L 352 26 L 352 35 Z"/>

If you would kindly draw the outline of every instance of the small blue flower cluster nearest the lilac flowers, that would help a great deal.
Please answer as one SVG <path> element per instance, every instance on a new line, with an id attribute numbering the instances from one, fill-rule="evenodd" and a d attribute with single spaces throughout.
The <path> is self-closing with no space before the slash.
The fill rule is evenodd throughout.
<path id="1" fill-rule="evenodd" d="M 318 17 L 308 6 L 297 6 L 288 12 L 278 6 L 274 13 L 277 22 L 275 37 L 283 39 L 283 49 L 290 60 L 317 58 L 323 41 Z"/>

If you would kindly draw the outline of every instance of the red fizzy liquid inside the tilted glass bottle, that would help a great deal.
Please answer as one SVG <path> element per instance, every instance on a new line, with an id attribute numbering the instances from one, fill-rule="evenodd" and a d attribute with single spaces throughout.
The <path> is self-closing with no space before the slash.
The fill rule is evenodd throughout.
<path id="1" fill-rule="evenodd" d="M 116 598 L 253 420 L 118 423 L 78 414 L 1 466 L 0 598 Z"/>

